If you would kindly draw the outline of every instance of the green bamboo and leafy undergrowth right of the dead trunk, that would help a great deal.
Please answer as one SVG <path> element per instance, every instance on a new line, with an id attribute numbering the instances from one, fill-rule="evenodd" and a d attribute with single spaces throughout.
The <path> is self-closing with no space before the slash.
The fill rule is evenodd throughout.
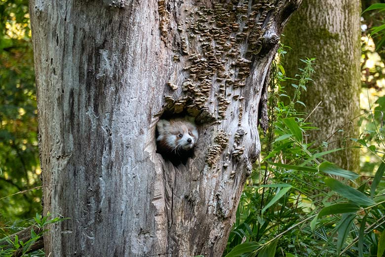
<path id="1" fill-rule="evenodd" d="M 282 57 L 283 47 L 279 53 Z M 303 62 L 295 79 L 286 78 L 279 63 L 271 68 L 263 160 L 244 188 L 226 257 L 382 255 L 385 163 L 369 138 L 383 135 L 373 129 L 365 131 L 370 137 L 354 139 L 380 158 L 373 179 L 327 162 L 325 155 L 343 149 L 323 151 L 308 142 L 308 131 L 317 128 L 296 106 L 303 104 L 301 90 L 311 81 L 314 59 Z M 284 91 L 288 84 L 295 87 L 292 97 Z"/>

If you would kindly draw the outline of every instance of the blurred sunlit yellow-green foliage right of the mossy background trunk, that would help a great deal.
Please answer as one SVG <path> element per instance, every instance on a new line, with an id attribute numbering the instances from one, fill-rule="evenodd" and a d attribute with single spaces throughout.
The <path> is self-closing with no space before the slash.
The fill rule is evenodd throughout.
<path id="1" fill-rule="evenodd" d="M 360 115 L 359 123 L 363 128 L 362 133 L 356 141 L 364 148 L 361 150 L 363 162 L 361 172 L 372 174 L 378 167 L 379 158 L 385 152 L 383 138 L 384 111 L 385 111 L 385 30 L 384 10 L 385 3 L 375 3 L 367 7 L 362 16 L 365 18 L 362 37 L 362 96 L 367 103 L 361 101 L 361 109 L 364 115 Z M 366 30 L 365 27 L 368 27 Z M 366 35 L 366 33 L 370 33 Z M 363 104 L 364 103 L 364 104 Z M 369 114 L 369 115 L 367 115 Z M 370 147 L 370 148 L 369 148 Z"/>

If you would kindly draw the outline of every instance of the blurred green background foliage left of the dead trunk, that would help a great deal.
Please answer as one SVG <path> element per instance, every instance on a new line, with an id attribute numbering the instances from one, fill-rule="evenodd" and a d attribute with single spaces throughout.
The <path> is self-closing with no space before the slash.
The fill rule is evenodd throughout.
<path id="1" fill-rule="evenodd" d="M 0 225 L 41 210 L 37 130 L 28 1 L 1 0 Z"/>

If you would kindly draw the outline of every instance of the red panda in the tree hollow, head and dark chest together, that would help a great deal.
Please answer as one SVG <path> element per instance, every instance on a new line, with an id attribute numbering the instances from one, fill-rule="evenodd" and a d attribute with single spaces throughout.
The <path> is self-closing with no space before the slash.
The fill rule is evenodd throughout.
<path id="1" fill-rule="evenodd" d="M 157 152 L 175 166 L 186 164 L 187 159 L 193 156 L 198 140 L 195 125 L 187 119 L 159 120 L 156 129 Z"/>

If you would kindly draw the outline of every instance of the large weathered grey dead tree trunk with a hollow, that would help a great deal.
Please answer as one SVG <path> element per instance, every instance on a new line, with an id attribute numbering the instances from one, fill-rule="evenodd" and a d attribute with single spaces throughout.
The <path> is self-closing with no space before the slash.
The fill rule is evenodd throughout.
<path id="1" fill-rule="evenodd" d="M 31 0 L 46 255 L 221 256 L 276 43 L 300 0 Z M 174 89 L 173 89 L 174 88 Z M 155 153 L 196 117 L 195 158 Z"/>

